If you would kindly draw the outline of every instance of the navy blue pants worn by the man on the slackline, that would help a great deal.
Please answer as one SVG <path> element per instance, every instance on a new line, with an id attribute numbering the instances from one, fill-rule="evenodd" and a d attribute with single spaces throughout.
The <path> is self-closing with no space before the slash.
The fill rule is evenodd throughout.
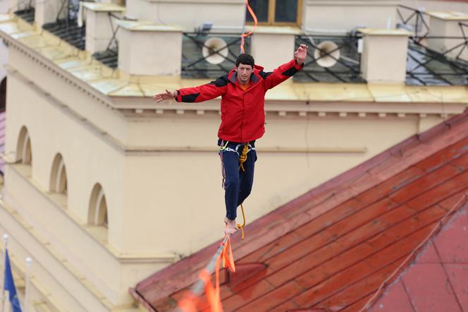
<path id="1" fill-rule="evenodd" d="M 228 142 L 219 139 L 219 157 L 221 157 L 221 172 L 223 174 L 224 200 L 226 202 L 226 217 L 235 220 L 238 206 L 242 204 L 252 191 L 254 183 L 254 165 L 257 160 L 255 141 L 249 143 L 247 160 L 243 166 L 245 171 L 239 168 L 239 155 L 245 143 Z"/>

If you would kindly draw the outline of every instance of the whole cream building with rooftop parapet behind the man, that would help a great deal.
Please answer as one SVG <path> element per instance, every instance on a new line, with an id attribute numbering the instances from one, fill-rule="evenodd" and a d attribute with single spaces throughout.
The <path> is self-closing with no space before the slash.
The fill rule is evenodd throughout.
<path id="1" fill-rule="evenodd" d="M 251 2 L 259 25 L 247 47 L 266 70 L 292 59 L 300 40 L 311 46 L 308 65 L 321 58 L 343 65 L 345 47 L 331 59 L 335 48 L 314 54 L 314 40 L 324 35 L 354 38 L 359 61 L 345 62 L 349 73 L 310 71 L 267 93 L 247 222 L 464 111 L 463 83 L 433 68 L 438 83 L 408 76 L 408 42 L 417 30 L 395 26 L 400 5 L 418 11 L 414 4 Z M 232 67 L 240 33 L 253 25 L 248 16 L 245 23 L 242 0 L 69 4 L 67 11 L 61 1 L 15 3 L 18 10 L 0 17 L 8 44 L 0 232 L 10 235 L 19 279 L 23 259 L 32 258 L 30 311 L 142 309 L 129 287 L 220 239 L 224 213 L 220 100 L 156 104 L 152 95 L 207 83 Z M 450 14 L 424 16 L 439 35 L 459 36 L 452 22 L 467 16 Z M 203 52 L 209 37 L 221 37 L 221 47 Z M 454 44 L 423 39 L 433 49 Z M 219 64 L 207 61 L 223 44 L 233 51 Z"/>

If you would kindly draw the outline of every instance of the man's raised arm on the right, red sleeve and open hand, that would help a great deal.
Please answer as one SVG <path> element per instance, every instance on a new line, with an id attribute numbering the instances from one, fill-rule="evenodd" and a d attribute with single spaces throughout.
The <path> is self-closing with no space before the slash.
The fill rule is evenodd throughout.
<path id="1" fill-rule="evenodd" d="M 279 66 L 273 72 L 265 73 L 261 71 L 260 75 L 264 78 L 266 89 L 276 87 L 276 85 L 279 85 L 297 73 L 297 71 L 300 71 L 302 67 L 304 67 L 304 61 L 307 57 L 307 49 L 307 45 L 301 44 L 300 47 L 297 48 L 296 52 L 294 52 L 293 60 Z"/>

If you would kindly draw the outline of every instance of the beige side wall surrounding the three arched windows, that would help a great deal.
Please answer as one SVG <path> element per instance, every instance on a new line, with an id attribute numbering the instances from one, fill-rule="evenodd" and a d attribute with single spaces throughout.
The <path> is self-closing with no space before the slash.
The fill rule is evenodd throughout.
<path id="1" fill-rule="evenodd" d="M 16 64 L 17 56 L 11 58 L 11 66 Z M 61 86 L 65 85 L 61 83 Z M 58 89 L 49 91 L 56 95 L 54 90 Z M 83 102 L 87 100 L 86 97 L 82 98 Z M 135 254 L 135 248 L 124 245 L 131 244 L 131 237 L 124 239 L 129 235 L 125 229 L 131 229 L 124 227 L 123 152 L 106 143 L 104 136 L 73 117 L 68 109 L 58 106 L 51 97 L 44 95 L 44 90 L 38 91 L 37 86 L 31 88 L 30 83 L 14 73 L 8 76 L 8 104 L 6 155 L 15 154 L 20 128 L 26 126 L 30 133 L 33 160 L 30 174 L 18 174 L 17 170 L 7 168 L 4 187 L 6 202 L 18 210 L 109 301 L 113 304 L 131 301 L 128 287 L 161 268 L 158 263 L 167 265 L 173 257 L 163 255 L 161 260 L 161 255 L 157 254 L 161 248 L 140 248 L 139 253 Z M 94 114 L 97 114 L 100 104 L 94 104 L 97 108 Z M 92 114 L 90 112 L 87 118 Z M 101 114 L 98 118 L 106 119 L 109 116 Z M 66 210 L 48 194 L 51 164 L 57 152 L 63 156 L 67 170 Z M 85 227 L 90 195 L 96 183 L 104 188 L 109 207 L 109 246 Z M 10 228 L 6 229 L 6 232 L 10 231 Z M 20 240 L 23 235 L 16 236 L 16 239 Z M 30 247 L 25 249 L 35 250 Z M 38 261 L 50 262 L 47 258 L 39 258 Z M 49 268 L 50 272 L 54 272 L 53 268 Z M 79 283 L 78 280 L 76 282 Z M 61 284 L 61 287 L 67 288 L 66 284 Z M 86 294 L 86 289 L 83 292 Z"/>

